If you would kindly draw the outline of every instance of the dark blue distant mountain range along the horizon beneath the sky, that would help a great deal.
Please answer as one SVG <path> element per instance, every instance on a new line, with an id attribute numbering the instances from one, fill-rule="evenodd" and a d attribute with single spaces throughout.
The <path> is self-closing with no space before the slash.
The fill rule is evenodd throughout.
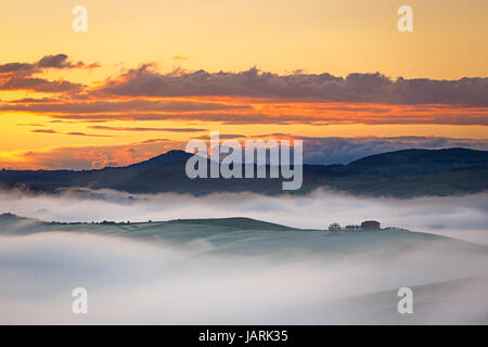
<path id="1" fill-rule="evenodd" d="M 192 155 L 169 151 L 127 167 L 99 170 L 1 170 L 0 187 L 55 193 L 65 188 L 115 189 L 129 193 L 256 192 L 304 194 L 317 188 L 373 196 L 447 196 L 488 190 L 488 151 L 402 150 L 367 156 L 347 165 L 304 165 L 304 184 L 282 191 L 279 179 L 189 179 Z M 269 175 L 268 175 L 269 176 Z"/>

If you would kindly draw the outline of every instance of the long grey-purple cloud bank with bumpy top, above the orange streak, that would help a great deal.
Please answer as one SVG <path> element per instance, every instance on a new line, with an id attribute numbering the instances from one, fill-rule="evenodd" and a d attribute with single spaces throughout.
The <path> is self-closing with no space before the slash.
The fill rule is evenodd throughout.
<path id="1" fill-rule="evenodd" d="M 151 64 L 107 80 L 99 91 L 131 97 L 231 95 L 384 104 L 467 104 L 488 106 L 488 78 L 459 80 L 390 79 L 380 73 L 279 76 L 253 67 L 241 73 L 159 74 Z"/>

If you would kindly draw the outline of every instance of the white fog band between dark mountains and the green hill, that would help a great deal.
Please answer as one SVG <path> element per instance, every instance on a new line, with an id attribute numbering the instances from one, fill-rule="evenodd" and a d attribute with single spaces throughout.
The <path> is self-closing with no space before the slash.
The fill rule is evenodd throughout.
<path id="1" fill-rule="evenodd" d="M 0 193 L 0 213 L 56 221 L 147 221 L 251 217 L 296 228 L 325 229 L 375 219 L 382 227 L 425 231 L 488 245 L 488 193 L 410 200 L 358 197 L 325 190 L 305 196 L 219 193 L 127 194 L 68 190 L 59 195 Z"/>

